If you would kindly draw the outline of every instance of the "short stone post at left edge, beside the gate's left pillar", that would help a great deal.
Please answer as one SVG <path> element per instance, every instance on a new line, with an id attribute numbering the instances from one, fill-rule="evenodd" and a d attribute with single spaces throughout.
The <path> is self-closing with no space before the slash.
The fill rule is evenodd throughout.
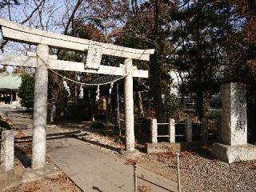
<path id="1" fill-rule="evenodd" d="M 2 131 L 0 164 L 3 172 L 14 169 L 14 130 Z"/>

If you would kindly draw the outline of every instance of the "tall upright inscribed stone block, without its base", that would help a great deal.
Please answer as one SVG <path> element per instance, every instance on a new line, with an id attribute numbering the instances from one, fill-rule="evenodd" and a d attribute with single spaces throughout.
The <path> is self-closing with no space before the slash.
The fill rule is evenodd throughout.
<path id="1" fill-rule="evenodd" d="M 238 82 L 222 84 L 222 142 L 247 144 L 246 87 Z"/>

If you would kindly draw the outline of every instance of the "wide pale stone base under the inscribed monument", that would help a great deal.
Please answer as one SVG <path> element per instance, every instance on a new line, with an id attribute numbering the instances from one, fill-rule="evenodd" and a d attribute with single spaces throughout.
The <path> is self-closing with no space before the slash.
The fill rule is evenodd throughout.
<path id="1" fill-rule="evenodd" d="M 229 146 L 222 143 L 214 143 L 212 153 L 223 162 L 241 162 L 256 159 L 256 146 L 241 145 Z"/>

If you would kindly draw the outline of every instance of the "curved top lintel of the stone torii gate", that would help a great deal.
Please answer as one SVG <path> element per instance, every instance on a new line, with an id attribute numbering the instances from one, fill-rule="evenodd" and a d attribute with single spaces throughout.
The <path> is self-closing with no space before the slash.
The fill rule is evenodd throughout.
<path id="1" fill-rule="evenodd" d="M 154 54 L 154 50 L 139 50 L 123 46 L 115 46 L 110 43 L 75 38 L 63 34 L 54 34 L 45 30 L 37 30 L 28 26 L 22 26 L 16 22 L 10 22 L 3 18 L 0 18 L 0 26 L 2 27 L 3 38 L 11 39 L 16 42 L 45 44 L 67 50 L 85 51 L 92 49 L 92 54 L 94 54 L 94 50 L 101 50 L 100 54 L 144 61 L 149 61 L 150 54 Z"/>

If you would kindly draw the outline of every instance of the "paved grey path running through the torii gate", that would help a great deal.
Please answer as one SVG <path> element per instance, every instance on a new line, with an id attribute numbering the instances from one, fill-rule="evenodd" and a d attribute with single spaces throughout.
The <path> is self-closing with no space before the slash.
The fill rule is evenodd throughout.
<path id="1" fill-rule="evenodd" d="M 28 115 L 5 111 L 14 125 L 30 136 L 32 120 Z M 47 156 L 84 191 L 118 192 L 133 190 L 133 167 L 87 142 L 66 138 L 60 130 L 47 129 Z M 138 167 L 138 186 L 149 185 L 151 191 L 177 191 L 177 184 L 149 170 Z"/>

